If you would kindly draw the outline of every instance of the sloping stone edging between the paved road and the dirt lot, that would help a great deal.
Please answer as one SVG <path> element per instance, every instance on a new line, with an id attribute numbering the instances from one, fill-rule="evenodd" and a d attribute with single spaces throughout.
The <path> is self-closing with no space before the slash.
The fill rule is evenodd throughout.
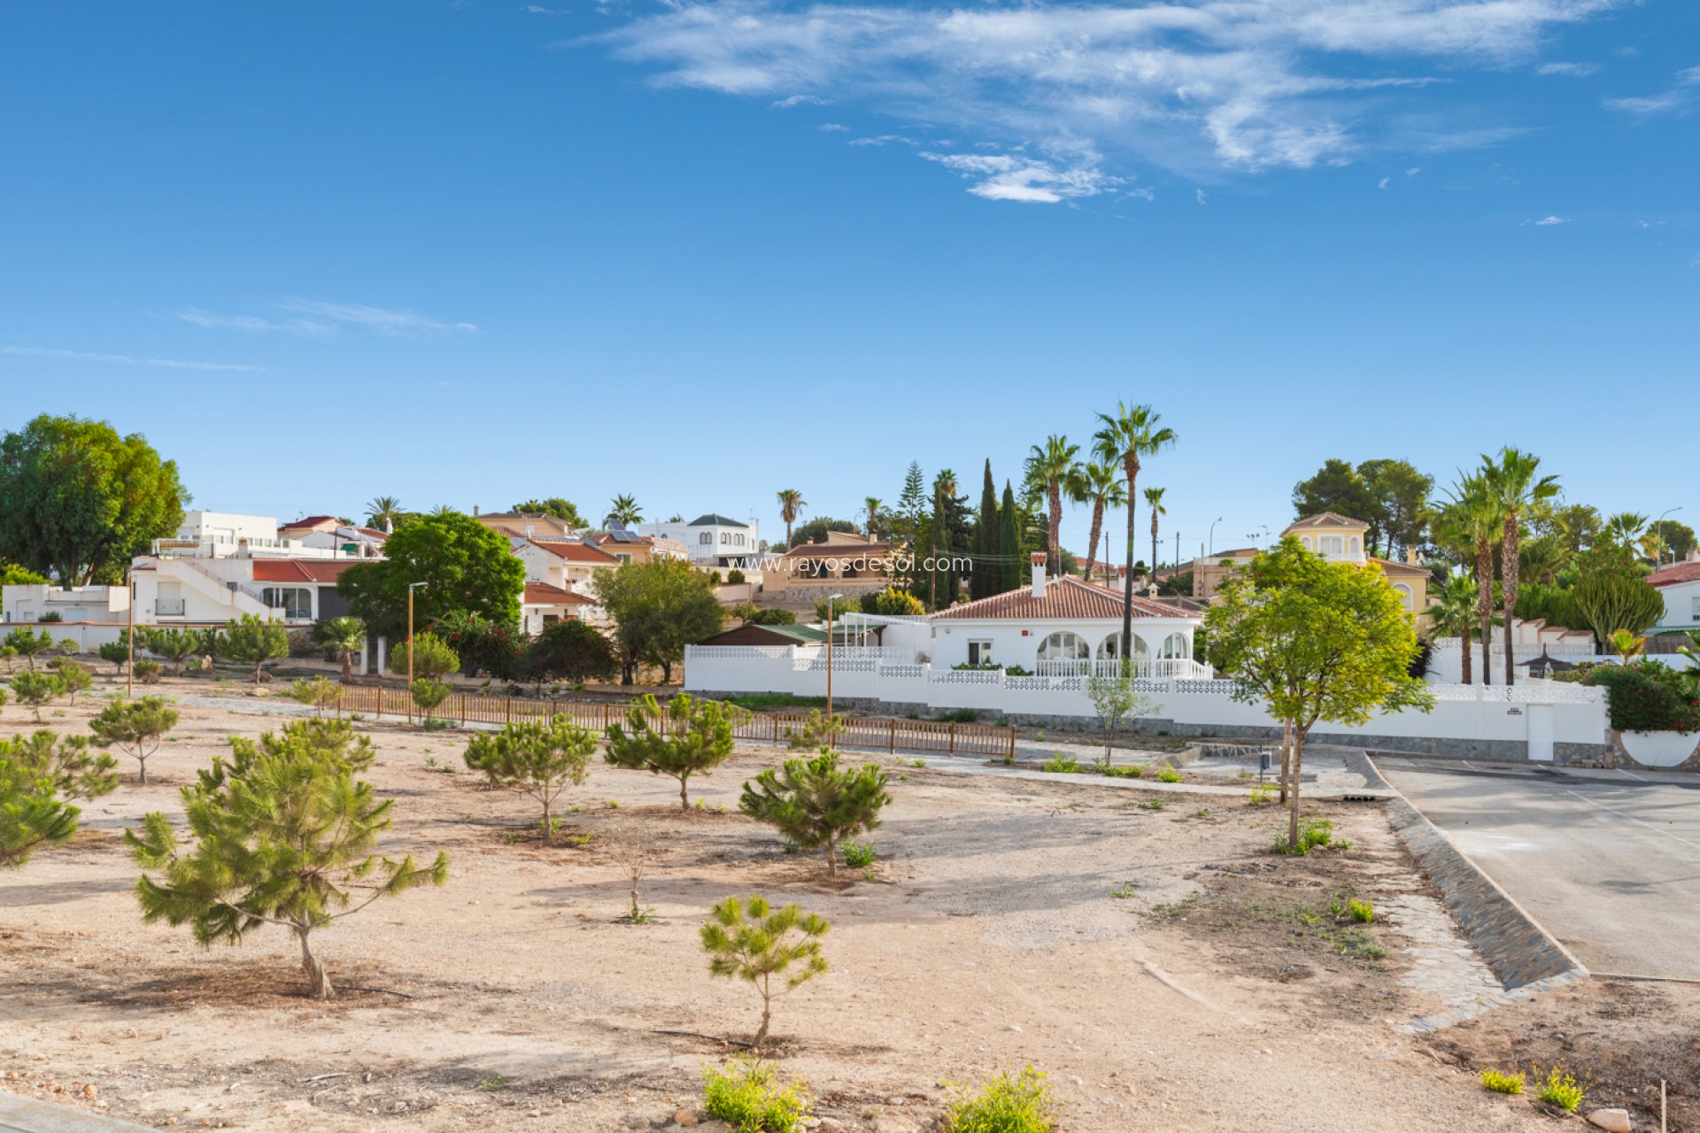
<path id="1" fill-rule="evenodd" d="M 1535 917 L 1511 899 L 1433 822 L 1411 805 L 1397 786 L 1382 778 L 1375 761 L 1358 756 L 1362 769 L 1387 792 L 1387 822 L 1416 856 L 1464 934 L 1488 961 L 1504 989 L 1484 1004 L 1447 1011 L 1404 1024 L 1406 1031 L 1436 1031 L 1493 1007 L 1532 999 L 1542 992 L 1584 978 L 1588 968 Z M 1355 759 L 1348 758 L 1348 766 Z"/>

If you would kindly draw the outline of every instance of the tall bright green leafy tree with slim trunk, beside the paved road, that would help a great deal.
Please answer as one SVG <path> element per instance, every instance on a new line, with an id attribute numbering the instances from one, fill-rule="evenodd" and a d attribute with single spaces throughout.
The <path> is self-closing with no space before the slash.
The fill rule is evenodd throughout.
<path id="1" fill-rule="evenodd" d="M 1299 846 L 1299 768 L 1319 720 L 1365 724 L 1377 712 L 1435 705 L 1409 676 L 1420 651 L 1411 615 L 1374 566 L 1326 562 L 1289 535 L 1234 571 L 1204 617 L 1210 659 L 1234 698 L 1261 702 L 1287 729 L 1287 844 Z"/>

